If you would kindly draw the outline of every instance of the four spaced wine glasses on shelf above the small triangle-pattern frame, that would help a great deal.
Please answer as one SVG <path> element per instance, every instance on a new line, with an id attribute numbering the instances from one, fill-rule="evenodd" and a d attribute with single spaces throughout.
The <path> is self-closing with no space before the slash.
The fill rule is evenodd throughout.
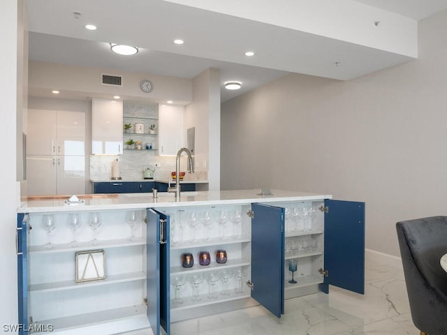
<path id="1" fill-rule="evenodd" d="M 126 223 L 129 223 L 131 227 L 131 236 L 129 237 L 130 240 L 134 239 L 133 234 L 133 228 L 135 227 L 135 224 L 139 220 L 138 211 L 126 211 Z M 93 238 L 91 239 L 91 244 L 96 245 L 98 244 L 98 239 L 96 238 L 98 235 L 98 230 L 101 227 L 102 220 L 101 220 L 101 214 L 98 212 L 91 212 L 89 213 L 88 223 L 93 231 Z M 53 214 L 45 214 L 43 216 L 43 222 L 42 222 L 43 228 L 47 231 L 47 244 L 45 244 L 46 248 L 51 249 L 53 248 L 53 244 L 51 243 L 51 232 L 56 228 L 56 221 L 54 219 Z M 78 213 L 71 213 L 68 214 L 68 221 L 67 225 L 71 230 L 73 231 L 73 240 L 70 243 L 70 246 L 75 247 L 79 246 L 80 243 L 76 241 L 77 239 L 77 232 L 82 226 L 82 220 L 81 216 Z"/>

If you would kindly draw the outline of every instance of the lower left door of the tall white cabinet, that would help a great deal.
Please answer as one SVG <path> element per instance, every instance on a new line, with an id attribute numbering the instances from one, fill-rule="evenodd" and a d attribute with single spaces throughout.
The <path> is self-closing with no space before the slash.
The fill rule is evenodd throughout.
<path id="1" fill-rule="evenodd" d="M 29 195 L 54 195 L 56 188 L 56 156 L 27 156 Z"/>

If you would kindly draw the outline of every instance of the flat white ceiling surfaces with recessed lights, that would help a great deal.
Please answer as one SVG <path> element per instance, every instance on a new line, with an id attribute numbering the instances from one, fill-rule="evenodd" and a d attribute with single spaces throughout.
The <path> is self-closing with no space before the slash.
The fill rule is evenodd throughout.
<path id="1" fill-rule="evenodd" d="M 414 20 L 447 8 L 447 0 L 357 2 Z M 348 80 L 412 59 L 162 0 L 27 0 L 27 7 L 31 60 L 187 78 L 220 68 L 222 101 L 292 72 Z M 79 19 L 74 11 L 82 13 Z M 98 29 L 87 31 L 87 23 Z M 184 45 L 172 43 L 179 37 Z M 137 45 L 140 51 L 122 57 L 110 52 L 108 43 Z M 256 50 L 256 55 L 245 57 L 247 50 Z M 337 61 L 340 66 L 335 66 Z M 240 80 L 242 89 L 226 91 L 227 80 Z"/>

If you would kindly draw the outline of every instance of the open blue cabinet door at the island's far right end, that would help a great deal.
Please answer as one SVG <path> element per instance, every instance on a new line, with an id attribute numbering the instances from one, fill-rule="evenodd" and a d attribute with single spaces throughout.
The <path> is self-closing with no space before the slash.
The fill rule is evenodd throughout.
<path id="1" fill-rule="evenodd" d="M 365 202 L 325 200 L 323 291 L 328 285 L 365 294 Z"/>

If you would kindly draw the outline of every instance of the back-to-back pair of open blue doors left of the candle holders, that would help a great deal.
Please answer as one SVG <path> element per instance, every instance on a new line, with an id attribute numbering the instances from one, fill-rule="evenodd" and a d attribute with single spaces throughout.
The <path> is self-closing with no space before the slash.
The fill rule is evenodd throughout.
<path id="1" fill-rule="evenodd" d="M 147 318 L 154 335 L 170 334 L 169 217 L 147 209 Z"/>

